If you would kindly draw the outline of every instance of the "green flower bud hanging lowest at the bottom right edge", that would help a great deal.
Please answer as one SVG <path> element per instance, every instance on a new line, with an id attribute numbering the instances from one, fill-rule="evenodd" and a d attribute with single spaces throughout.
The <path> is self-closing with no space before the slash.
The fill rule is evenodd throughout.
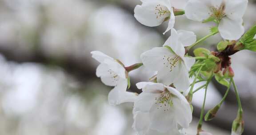
<path id="1" fill-rule="evenodd" d="M 242 135 L 244 131 L 244 121 L 242 119 L 235 119 L 232 124 L 231 135 Z"/>

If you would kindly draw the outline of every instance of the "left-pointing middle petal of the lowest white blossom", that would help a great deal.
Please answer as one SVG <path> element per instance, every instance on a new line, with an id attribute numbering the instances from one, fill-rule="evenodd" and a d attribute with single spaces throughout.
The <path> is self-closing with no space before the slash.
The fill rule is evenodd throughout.
<path id="1" fill-rule="evenodd" d="M 149 111 L 154 103 L 156 103 L 156 98 L 160 96 L 160 93 L 148 93 L 142 92 L 137 97 L 134 102 L 134 111 Z"/>

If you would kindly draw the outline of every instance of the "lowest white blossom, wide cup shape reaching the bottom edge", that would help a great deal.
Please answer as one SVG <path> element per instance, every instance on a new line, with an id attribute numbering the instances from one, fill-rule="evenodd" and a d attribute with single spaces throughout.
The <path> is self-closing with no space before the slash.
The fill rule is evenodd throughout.
<path id="1" fill-rule="evenodd" d="M 134 113 L 140 115 L 135 115 L 133 127 L 136 131 L 177 132 L 179 134 L 173 135 L 180 135 L 179 129 L 189 127 L 192 111 L 180 91 L 162 83 L 140 82 L 136 86 L 143 91 L 134 103 Z"/>

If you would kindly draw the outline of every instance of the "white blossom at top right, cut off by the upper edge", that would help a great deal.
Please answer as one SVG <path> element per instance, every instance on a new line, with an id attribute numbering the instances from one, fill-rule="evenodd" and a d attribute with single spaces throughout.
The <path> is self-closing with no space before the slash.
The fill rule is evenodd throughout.
<path id="1" fill-rule="evenodd" d="M 226 40 L 238 40 L 244 34 L 243 19 L 248 0 L 189 0 L 185 15 L 195 21 L 214 18 L 220 35 Z"/>

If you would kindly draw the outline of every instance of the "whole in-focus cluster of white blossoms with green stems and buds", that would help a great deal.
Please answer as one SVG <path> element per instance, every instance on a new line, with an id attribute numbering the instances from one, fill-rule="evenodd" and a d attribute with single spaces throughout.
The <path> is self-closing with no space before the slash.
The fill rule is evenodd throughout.
<path id="1" fill-rule="evenodd" d="M 134 9 L 136 20 L 150 27 L 168 21 L 168 28 L 164 33 L 171 31 L 171 36 L 162 47 L 142 53 L 140 56 L 142 63 L 129 67 L 125 67 L 119 60 L 102 52 L 91 52 L 92 57 L 100 62 L 96 69 L 97 77 L 100 77 L 104 84 L 114 87 L 108 94 L 109 103 L 112 105 L 134 103 L 132 128 L 137 135 L 185 135 L 184 129 L 188 128 L 192 121 L 192 95 L 205 88 L 197 135 L 212 135 L 202 130 L 209 82 L 215 77 L 220 84 L 228 87 L 226 91 L 228 93 L 231 84 L 235 87 L 229 56 L 243 49 L 256 51 L 256 25 L 244 34 L 242 17 L 248 0 L 188 0 L 184 10 L 173 7 L 172 0 L 140 1 L 142 4 Z M 196 40 L 194 32 L 174 28 L 175 16 L 184 14 L 190 20 L 203 23 L 213 21 L 216 26 L 211 28 L 208 36 Z M 192 47 L 217 33 L 223 38 L 223 41 L 217 45 L 218 52 L 197 48 L 194 50 L 195 56 L 188 55 Z M 157 71 L 157 74 L 149 79 L 149 82 L 136 83 L 137 88 L 142 89 L 140 94 L 128 92 L 129 71 L 142 65 Z M 190 78 L 194 81 L 190 82 Z M 194 90 L 194 85 L 198 82 L 206 83 Z M 243 111 L 236 87 L 235 91 L 239 111 L 233 123 L 232 135 L 241 135 L 244 130 Z M 208 111 L 205 121 L 211 120 L 216 115 L 224 99 L 225 96 L 216 107 Z"/>

